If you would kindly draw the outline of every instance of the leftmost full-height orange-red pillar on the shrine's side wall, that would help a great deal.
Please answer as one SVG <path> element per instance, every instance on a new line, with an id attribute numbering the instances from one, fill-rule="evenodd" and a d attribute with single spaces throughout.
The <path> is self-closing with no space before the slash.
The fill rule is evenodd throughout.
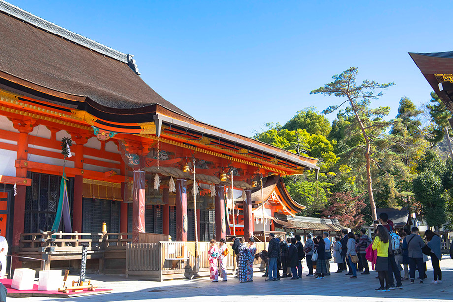
<path id="1" fill-rule="evenodd" d="M 27 149 L 28 149 L 28 134 L 33 131 L 36 126 L 36 121 L 32 119 L 28 120 L 11 120 L 14 128 L 19 130 L 17 140 L 17 159 L 27 160 Z M 16 177 L 27 177 L 27 168 L 17 167 Z M 21 234 L 24 233 L 24 213 L 25 213 L 25 186 L 18 185 L 17 194 L 14 197 L 14 217 L 13 217 L 13 238 L 12 238 L 12 252 L 17 253 L 19 251 L 19 243 Z M 17 257 L 12 257 L 11 266 L 13 269 L 20 268 L 21 262 L 18 261 Z"/>

